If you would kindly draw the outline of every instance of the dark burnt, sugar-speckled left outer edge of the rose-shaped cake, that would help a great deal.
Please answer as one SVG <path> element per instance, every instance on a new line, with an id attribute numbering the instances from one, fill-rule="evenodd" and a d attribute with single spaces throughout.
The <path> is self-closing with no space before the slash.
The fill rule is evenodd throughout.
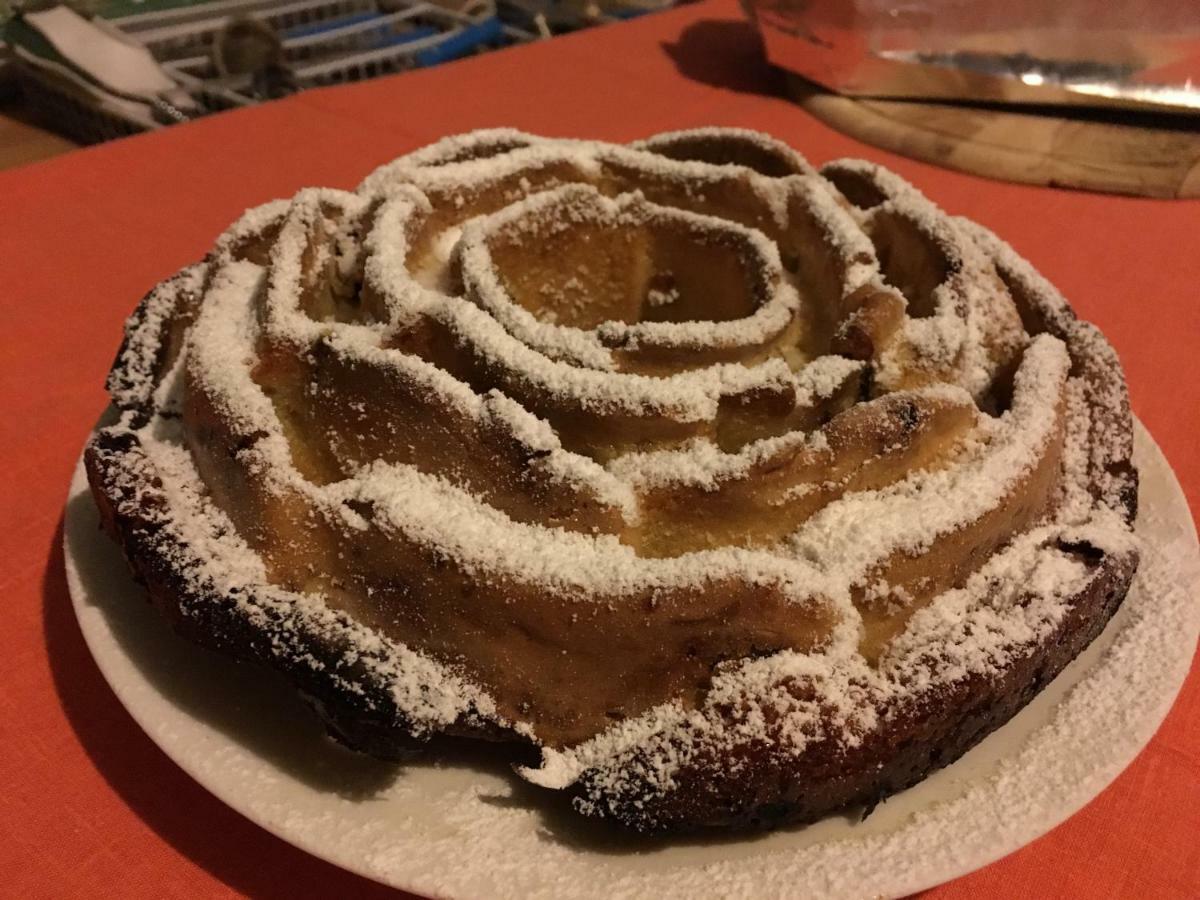
<path id="1" fill-rule="evenodd" d="M 196 584 L 182 571 L 198 571 L 203 560 L 167 528 L 168 502 L 154 464 L 146 458 L 136 430 L 162 413 L 155 391 L 181 352 L 179 316 L 190 324 L 208 286 L 215 253 L 156 284 L 125 322 L 124 338 L 109 370 L 106 388 L 127 424 L 97 431 L 84 451 L 84 466 L 101 527 L 120 545 L 134 580 L 151 605 L 184 638 L 240 662 L 265 665 L 281 672 L 320 718 L 331 737 L 344 746 L 384 760 L 412 758 L 437 736 L 469 736 L 485 740 L 529 742 L 490 718 L 468 710 L 439 732 L 416 728 L 397 707 L 391 685 L 362 665 L 353 632 L 364 626 L 343 613 L 329 611 L 325 622 L 312 622 L 296 611 L 286 622 L 258 602 L 251 590 L 232 598 L 209 583 Z M 286 593 L 281 589 L 281 594 Z M 268 631 L 238 608 L 238 600 L 275 619 Z M 284 628 L 286 625 L 286 628 Z M 343 631 L 340 642 L 330 634 Z M 347 652 L 353 647 L 354 652 Z M 385 653 L 377 659 L 389 662 Z"/>

